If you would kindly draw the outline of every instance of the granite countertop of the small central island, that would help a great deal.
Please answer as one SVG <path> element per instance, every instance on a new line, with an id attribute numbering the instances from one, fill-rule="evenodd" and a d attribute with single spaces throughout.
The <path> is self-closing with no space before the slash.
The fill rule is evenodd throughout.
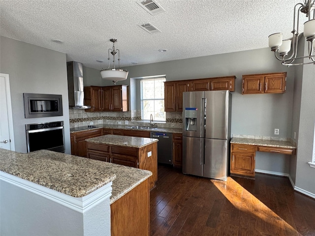
<path id="1" fill-rule="evenodd" d="M 98 137 L 86 139 L 85 141 L 92 142 L 92 143 L 98 143 L 98 144 L 108 144 L 108 145 L 116 145 L 116 146 L 123 146 L 123 147 L 142 148 L 142 147 L 145 147 L 147 145 L 158 142 L 158 139 L 107 134 L 107 135 L 103 135 L 103 136 L 98 136 Z"/>

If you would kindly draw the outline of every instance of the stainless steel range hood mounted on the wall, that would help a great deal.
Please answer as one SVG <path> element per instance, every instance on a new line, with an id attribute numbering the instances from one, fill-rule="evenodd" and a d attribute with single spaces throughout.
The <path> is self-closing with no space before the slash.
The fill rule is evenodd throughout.
<path id="1" fill-rule="evenodd" d="M 83 87 L 83 65 L 80 62 L 67 62 L 69 108 L 90 109 L 85 106 Z"/>

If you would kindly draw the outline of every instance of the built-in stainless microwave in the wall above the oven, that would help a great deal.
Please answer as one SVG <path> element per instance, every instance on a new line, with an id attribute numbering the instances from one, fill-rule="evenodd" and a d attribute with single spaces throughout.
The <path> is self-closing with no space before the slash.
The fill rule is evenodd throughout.
<path id="1" fill-rule="evenodd" d="M 25 118 L 63 116 L 62 95 L 23 93 Z"/>

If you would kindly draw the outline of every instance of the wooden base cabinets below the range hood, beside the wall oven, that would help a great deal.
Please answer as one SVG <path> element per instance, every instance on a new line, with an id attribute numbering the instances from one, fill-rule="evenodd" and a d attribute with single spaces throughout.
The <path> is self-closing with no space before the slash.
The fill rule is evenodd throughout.
<path id="1" fill-rule="evenodd" d="M 71 139 L 71 154 L 76 156 L 87 157 L 87 142 L 86 139 L 101 136 L 102 129 L 93 129 L 70 135 Z"/>

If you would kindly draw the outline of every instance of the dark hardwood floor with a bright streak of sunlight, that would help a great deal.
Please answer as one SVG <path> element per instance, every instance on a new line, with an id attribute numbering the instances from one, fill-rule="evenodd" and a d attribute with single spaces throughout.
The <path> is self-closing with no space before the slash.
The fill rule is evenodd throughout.
<path id="1" fill-rule="evenodd" d="M 287 177 L 227 181 L 158 166 L 150 192 L 151 236 L 315 236 L 315 200 Z"/>

